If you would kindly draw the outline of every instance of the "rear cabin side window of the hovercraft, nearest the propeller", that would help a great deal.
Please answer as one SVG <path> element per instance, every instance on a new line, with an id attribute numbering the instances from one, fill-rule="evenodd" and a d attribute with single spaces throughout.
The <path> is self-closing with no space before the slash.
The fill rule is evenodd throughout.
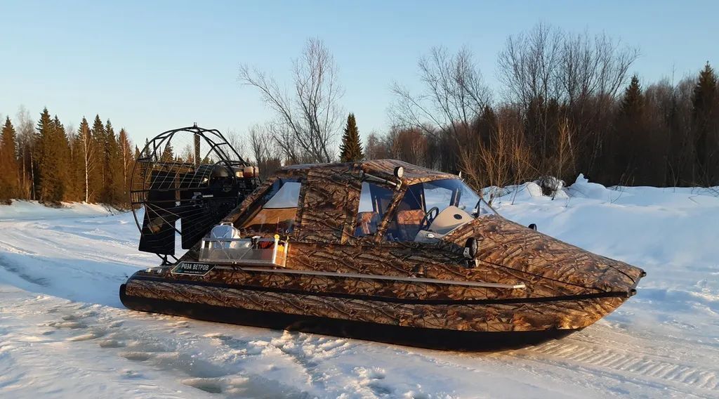
<path id="1" fill-rule="evenodd" d="M 259 233 L 286 234 L 293 231 L 300 199 L 301 183 L 297 179 L 278 179 L 262 198 L 262 203 L 242 228 Z"/>

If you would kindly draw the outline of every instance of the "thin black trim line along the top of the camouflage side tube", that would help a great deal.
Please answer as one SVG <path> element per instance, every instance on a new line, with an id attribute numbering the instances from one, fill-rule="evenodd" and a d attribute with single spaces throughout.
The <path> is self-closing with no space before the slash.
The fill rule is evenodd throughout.
<path id="1" fill-rule="evenodd" d="M 222 283 L 211 283 L 207 281 L 193 281 L 193 280 L 168 280 L 166 278 L 153 278 L 149 276 L 133 276 L 130 280 L 146 280 L 146 281 L 157 281 L 162 283 L 170 284 L 186 284 L 186 285 L 201 285 L 203 287 L 216 287 L 216 288 L 232 288 L 235 290 L 249 290 L 249 291 L 261 291 L 268 293 L 288 293 L 293 295 L 308 295 L 308 296 L 319 296 L 329 298 L 345 298 L 345 299 L 361 299 L 363 301 L 377 301 L 386 303 L 406 303 L 411 305 L 498 305 L 498 304 L 512 304 L 512 303 L 543 303 L 543 302 L 559 302 L 559 301 L 581 301 L 582 299 L 595 299 L 595 298 L 628 298 L 631 296 L 626 291 L 620 292 L 603 292 L 603 293 L 590 293 L 583 295 L 560 295 L 560 296 L 547 296 L 547 297 L 536 297 L 536 298 L 503 298 L 503 299 L 412 299 L 412 298 L 391 298 L 386 296 L 376 295 L 357 295 L 348 293 L 322 293 L 322 292 L 310 292 L 303 290 L 293 290 L 289 288 L 274 288 L 274 287 L 261 287 L 257 285 L 227 285 Z M 129 282 L 129 280 L 128 280 Z"/>

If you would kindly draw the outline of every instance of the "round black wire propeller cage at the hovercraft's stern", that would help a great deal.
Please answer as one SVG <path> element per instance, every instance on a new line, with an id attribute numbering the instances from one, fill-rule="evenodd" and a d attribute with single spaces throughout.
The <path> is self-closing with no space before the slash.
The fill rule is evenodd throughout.
<path id="1" fill-rule="evenodd" d="M 257 188 L 257 172 L 215 129 L 158 134 L 139 154 L 130 183 L 139 250 L 166 262 L 175 255 L 175 235 L 191 248 Z"/>

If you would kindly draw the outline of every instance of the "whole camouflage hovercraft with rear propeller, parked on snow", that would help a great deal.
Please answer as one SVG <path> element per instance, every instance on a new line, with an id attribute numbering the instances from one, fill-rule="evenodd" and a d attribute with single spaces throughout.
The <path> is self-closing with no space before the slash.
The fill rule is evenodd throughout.
<path id="1" fill-rule="evenodd" d="M 368 160 L 285 166 L 260 184 L 219 132 L 170 132 L 191 135 L 194 156 L 163 160 L 165 132 L 137 160 L 140 249 L 163 264 L 121 286 L 130 309 L 493 350 L 584 329 L 646 275 L 504 219 L 457 175 Z"/>

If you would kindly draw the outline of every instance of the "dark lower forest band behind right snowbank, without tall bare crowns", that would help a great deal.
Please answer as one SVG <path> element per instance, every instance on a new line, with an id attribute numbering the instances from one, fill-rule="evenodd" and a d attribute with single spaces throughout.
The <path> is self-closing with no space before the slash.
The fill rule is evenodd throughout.
<path id="1" fill-rule="evenodd" d="M 475 187 L 578 173 L 605 185 L 719 185 L 719 91 L 696 76 L 643 87 L 637 75 L 613 96 L 532 97 L 484 104 L 454 125 L 398 124 L 367 139 L 367 157 L 462 171 Z"/>

